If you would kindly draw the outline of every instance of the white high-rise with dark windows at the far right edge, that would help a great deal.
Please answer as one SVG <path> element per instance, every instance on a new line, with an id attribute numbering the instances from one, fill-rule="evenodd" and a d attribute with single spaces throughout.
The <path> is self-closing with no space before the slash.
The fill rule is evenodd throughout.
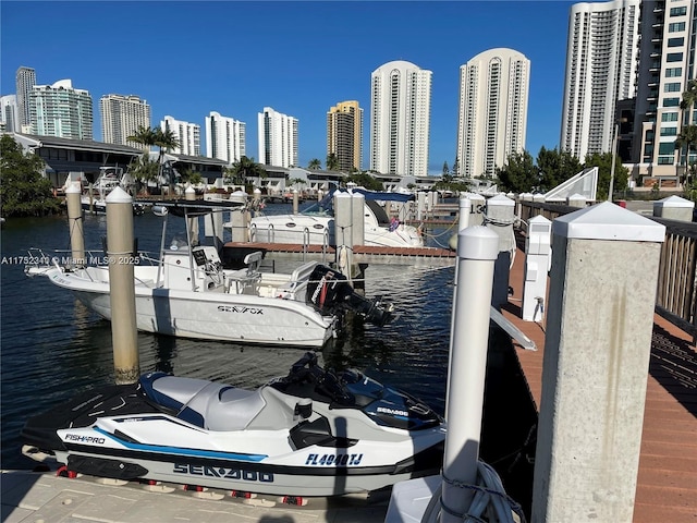
<path id="1" fill-rule="evenodd" d="M 632 159 L 641 185 L 674 186 L 685 165 L 675 138 L 683 125 L 697 124 L 697 111 L 680 108 L 688 81 L 697 78 L 697 9 L 694 0 L 644 1 L 641 8 Z"/>

